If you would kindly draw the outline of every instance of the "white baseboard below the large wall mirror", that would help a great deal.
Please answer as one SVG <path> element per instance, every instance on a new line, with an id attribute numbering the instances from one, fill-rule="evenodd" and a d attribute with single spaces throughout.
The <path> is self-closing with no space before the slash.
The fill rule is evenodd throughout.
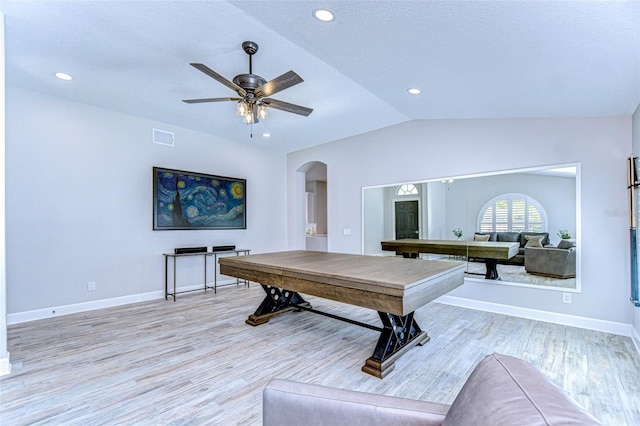
<path id="1" fill-rule="evenodd" d="M 465 299 L 462 297 L 445 295 L 440 296 L 435 300 L 435 302 L 443 303 L 445 305 L 459 306 L 461 308 L 493 312 L 496 314 L 511 315 L 514 317 L 532 319 L 536 321 L 552 322 L 555 324 L 568 325 L 571 327 L 586 328 L 589 330 L 602 331 L 605 333 L 617 334 L 620 336 L 632 337 L 632 331 L 635 331 L 631 324 L 579 317 L 575 315 L 558 314 L 555 312 L 539 311 L 529 308 L 520 308 L 517 306 L 502 305 L 499 303 L 482 302 L 478 300 Z M 635 343 L 636 349 L 638 349 L 638 343 Z M 640 350 L 638 351 L 638 353 L 640 354 Z"/>

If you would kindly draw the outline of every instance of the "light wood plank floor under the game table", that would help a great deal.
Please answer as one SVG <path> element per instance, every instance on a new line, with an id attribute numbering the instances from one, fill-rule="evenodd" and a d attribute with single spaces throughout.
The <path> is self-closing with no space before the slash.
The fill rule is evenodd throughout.
<path id="1" fill-rule="evenodd" d="M 261 424 L 272 377 L 451 403 L 487 354 L 524 358 L 608 425 L 640 424 L 640 357 L 629 338 L 431 303 L 431 341 L 383 380 L 360 371 L 375 331 L 309 312 L 251 327 L 260 286 L 228 287 L 9 327 L 13 372 L 0 424 Z M 378 325 L 373 311 L 308 297 Z"/>

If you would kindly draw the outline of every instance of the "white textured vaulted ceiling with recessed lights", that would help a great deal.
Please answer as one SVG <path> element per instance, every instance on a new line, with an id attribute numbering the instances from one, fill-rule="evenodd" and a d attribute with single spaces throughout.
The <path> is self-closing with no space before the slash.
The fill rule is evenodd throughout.
<path id="1" fill-rule="evenodd" d="M 7 85 L 285 152 L 415 119 L 630 115 L 640 102 L 640 0 L 5 1 Z M 312 17 L 326 7 L 331 23 Z M 305 81 L 250 126 L 231 80 Z M 75 77 L 64 82 L 57 71 Z M 422 94 L 409 95 L 418 87 Z M 263 132 L 271 133 L 264 139 Z"/>

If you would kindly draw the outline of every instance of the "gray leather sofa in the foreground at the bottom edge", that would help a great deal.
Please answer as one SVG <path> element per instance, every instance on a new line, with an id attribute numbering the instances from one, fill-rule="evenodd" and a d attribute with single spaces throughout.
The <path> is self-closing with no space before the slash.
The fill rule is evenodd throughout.
<path id="1" fill-rule="evenodd" d="M 500 354 L 478 364 L 451 405 L 273 379 L 262 417 L 264 426 L 600 424 L 531 364 Z"/>

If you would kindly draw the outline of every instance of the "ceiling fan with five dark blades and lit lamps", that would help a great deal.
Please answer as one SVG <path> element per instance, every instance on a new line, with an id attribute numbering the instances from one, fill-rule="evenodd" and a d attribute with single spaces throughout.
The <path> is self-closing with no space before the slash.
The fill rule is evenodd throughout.
<path id="1" fill-rule="evenodd" d="M 311 108 L 268 97 L 298 83 L 302 83 L 304 80 L 302 80 L 298 74 L 293 71 L 288 71 L 271 81 L 265 81 L 265 79 L 259 75 L 253 74 L 252 70 L 251 58 L 258 51 L 258 44 L 253 41 L 245 41 L 242 43 L 242 49 L 249 55 L 249 74 L 239 74 L 234 77 L 233 81 L 227 80 L 204 64 L 190 64 L 214 80 L 234 90 L 238 94 L 237 97 L 184 99 L 182 102 L 197 104 L 204 102 L 236 101 L 238 102 L 236 112 L 243 118 L 246 124 L 258 123 L 259 119 L 267 118 L 267 107 L 304 115 L 305 117 L 311 114 L 313 111 Z"/>

